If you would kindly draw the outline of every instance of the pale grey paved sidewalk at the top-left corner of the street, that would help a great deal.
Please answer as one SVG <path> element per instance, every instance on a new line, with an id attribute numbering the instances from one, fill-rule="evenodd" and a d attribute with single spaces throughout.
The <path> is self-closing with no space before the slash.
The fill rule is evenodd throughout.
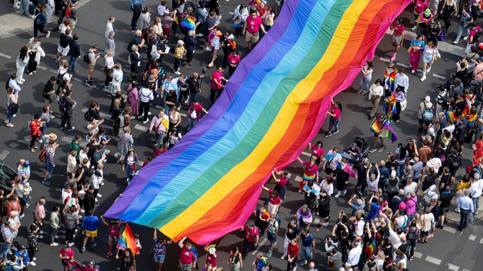
<path id="1" fill-rule="evenodd" d="M 87 4 L 89 0 L 82 0 L 77 2 L 76 9 L 80 9 L 85 4 Z M 9 9 L 12 9 L 9 6 Z M 13 9 L 12 9 L 13 11 Z M 57 16 L 52 16 L 54 23 L 57 21 Z M 0 16 L 0 40 L 7 39 L 13 36 L 21 35 L 24 32 L 32 32 L 34 29 L 34 20 L 28 18 L 25 15 L 20 16 L 20 12 L 14 11 L 12 13 L 8 13 L 5 15 Z"/>

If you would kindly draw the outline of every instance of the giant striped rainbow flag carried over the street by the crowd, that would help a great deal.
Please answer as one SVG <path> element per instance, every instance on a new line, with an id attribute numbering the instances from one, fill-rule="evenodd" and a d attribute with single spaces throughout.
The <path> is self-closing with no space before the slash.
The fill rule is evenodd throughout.
<path id="1" fill-rule="evenodd" d="M 274 167 L 318 133 L 330 100 L 411 0 L 288 0 L 216 104 L 105 214 L 208 244 L 252 214 Z M 349 124 L 350 125 L 350 124 Z"/>

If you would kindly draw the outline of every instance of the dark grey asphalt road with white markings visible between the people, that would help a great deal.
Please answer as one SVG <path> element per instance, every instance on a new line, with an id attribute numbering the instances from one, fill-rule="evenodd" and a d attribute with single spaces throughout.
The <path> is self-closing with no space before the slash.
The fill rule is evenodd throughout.
<path id="1" fill-rule="evenodd" d="M 222 5 L 222 14 L 224 17 L 221 25 L 223 31 L 232 30 L 229 20 L 231 15 L 229 15 L 228 12 L 232 12 L 234 7 L 241 2 L 242 1 L 240 0 L 232 0 L 230 2 L 220 1 L 220 4 Z M 156 13 L 157 4 L 158 1 L 147 1 L 147 6 L 153 10 L 153 13 Z M 77 32 L 80 36 L 79 43 L 81 44 L 81 50 L 83 52 L 85 52 L 85 50 L 87 50 L 93 44 L 98 44 L 100 48 L 104 48 L 105 21 L 109 15 L 114 15 L 116 17 L 114 30 L 116 32 L 115 41 L 117 49 L 114 59 L 122 63 L 123 66 L 126 66 L 128 53 L 125 48 L 133 36 L 133 34 L 129 31 L 131 12 L 128 9 L 127 1 L 92 1 L 82 7 L 77 14 L 79 20 L 75 28 L 75 32 Z M 406 11 L 403 16 L 405 18 L 412 18 L 410 11 Z M 409 19 L 406 19 L 405 21 L 409 22 Z M 454 33 L 454 27 L 455 26 L 450 29 L 448 36 L 450 40 L 456 36 L 456 33 Z M 53 26 L 49 25 L 47 28 L 53 28 Z M 409 29 L 410 27 L 407 28 Z M 1 73 L 3 74 L 3 78 L 7 79 L 10 74 L 15 72 L 15 58 L 18 50 L 27 42 L 29 37 L 31 37 L 31 34 L 24 34 L 21 36 L 0 40 L 0 53 L 7 56 L 0 56 L 0 63 L 2 63 L 0 69 Z M 15 127 L 7 128 L 2 126 L 0 128 L 0 158 L 3 158 L 1 162 L 7 163 L 12 167 L 16 167 L 17 161 L 20 158 L 31 161 L 31 185 L 34 189 L 30 202 L 32 207 L 27 209 L 25 212 L 25 217 L 21 220 L 22 226 L 20 227 L 18 234 L 19 237 L 16 239 L 16 241 L 22 245 L 26 245 L 26 240 L 23 237 L 26 236 L 26 227 L 29 226 L 33 221 L 33 209 L 35 206 L 34 202 L 37 201 L 41 196 L 46 196 L 46 210 L 51 210 L 53 206 L 62 204 L 61 189 L 65 182 L 66 157 L 69 151 L 69 144 L 67 141 L 72 139 L 77 134 L 80 134 L 81 136 L 85 136 L 86 134 L 86 123 L 83 120 L 83 113 L 81 110 L 88 107 L 90 101 L 96 100 L 101 104 L 101 112 L 108 114 L 108 107 L 110 104 L 108 92 L 103 91 L 103 89 L 100 87 L 89 88 L 84 84 L 86 65 L 82 62 L 82 60 L 79 60 L 77 70 L 79 70 L 80 73 L 74 75 L 78 81 L 73 81 L 72 87 L 72 97 L 78 103 L 74 109 L 75 116 L 73 118 L 73 125 L 76 126 L 76 130 L 71 132 L 59 130 L 58 125 L 60 119 L 59 115 L 55 114 L 56 118 L 52 120 L 51 127 L 48 129 L 48 132 L 57 134 L 59 142 L 61 142 L 61 147 L 55 156 L 56 167 L 54 170 L 54 176 L 51 179 L 53 184 L 49 187 L 42 185 L 40 181 L 43 178 L 43 173 L 39 164 L 38 153 L 33 154 L 28 151 L 28 132 L 24 129 L 24 126 L 27 120 L 32 118 L 34 114 L 41 112 L 44 104 L 44 99 L 41 96 L 44 84 L 50 76 L 54 76 L 54 73 L 56 73 L 57 63 L 53 60 L 55 58 L 55 51 L 58 43 L 58 33 L 53 33 L 49 39 L 42 38 L 41 42 L 42 47 L 47 53 L 47 56 L 42 58 L 40 65 L 45 69 L 38 69 L 38 72 L 33 76 L 25 74 L 24 78 L 26 79 L 26 82 L 22 85 L 22 92 L 20 93 L 19 99 L 20 111 L 17 113 L 17 117 L 15 117 L 13 121 Z M 171 44 L 174 42 L 174 39 L 170 40 Z M 237 40 L 237 42 L 240 55 L 243 57 L 247 52 L 246 44 L 242 39 Z M 406 41 L 405 45 L 407 46 L 407 44 L 408 42 Z M 460 46 L 464 45 L 465 44 L 460 42 Z M 376 56 L 374 58 L 375 69 L 373 73 L 373 81 L 376 78 L 382 78 L 387 62 L 381 60 L 380 58 L 390 58 L 390 49 L 390 40 L 389 37 L 386 36 L 376 50 Z M 144 51 L 145 49 L 143 49 L 143 53 Z M 439 77 L 430 75 L 426 81 L 420 82 L 420 74 L 408 73 L 410 79 L 408 108 L 403 112 L 401 121 L 393 124 L 393 127 L 401 141 L 405 141 L 408 137 L 416 137 L 418 135 L 416 112 L 419 103 L 426 95 L 430 95 L 434 100 L 434 97 L 437 95 L 435 87 L 445 82 L 445 80 L 441 79 L 440 77 L 446 77 L 450 72 L 455 70 L 455 62 L 460 57 L 449 52 L 441 53 L 442 57 L 435 62 L 435 65 L 431 70 L 431 74 L 438 75 Z M 8 56 L 10 56 L 10 58 L 8 58 Z M 408 63 L 408 57 L 408 54 L 404 49 L 402 49 L 396 62 L 403 63 L 404 65 Z M 206 65 L 209 60 L 209 53 L 206 53 L 199 48 L 195 53 L 194 67 L 192 69 L 182 67 L 181 72 L 184 74 L 190 74 L 195 71 L 200 72 L 201 67 Z M 219 58 L 218 62 L 220 61 L 221 59 Z M 99 61 L 98 65 L 96 66 L 96 72 L 93 76 L 95 79 L 95 84 L 102 84 L 104 81 L 104 74 L 101 68 L 103 63 L 101 62 L 103 61 Z M 168 74 L 172 74 L 172 63 L 172 56 L 165 57 L 165 70 Z M 398 65 L 398 67 L 401 67 L 401 65 Z M 127 78 L 127 73 L 129 73 L 129 70 L 125 69 L 124 71 L 125 78 Z M 341 101 L 344 109 L 342 112 L 342 121 L 340 123 L 341 132 L 329 138 L 323 138 L 323 134 L 328 125 L 328 123 L 325 123 L 322 126 L 317 138 L 314 140 L 322 140 L 326 151 L 333 147 L 344 148 L 348 146 L 353 142 L 355 136 L 367 138 L 370 140 L 371 144 L 372 134 L 369 130 L 370 121 L 367 120 L 367 114 L 371 109 L 371 105 L 367 100 L 367 96 L 356 93 L 358 89 L 358 80 L 359 78 L 354 81 L 349 90 L 340 93 L 335 98 L 336 100 Z M 203 104 L 205 107 L 207 107 L 209 104 L 209 100 L 207 98 L 209 86 L 207 85 L 207 81 L 208 80 L 205 80 L 203 82 L 203 91 L 201 94 L 203 96 L 201 104 Z M 127 83 L 125 82 L 123 83 L 123 90 L 126 91 L 126 89 Z M 156 109 L 154 107 L 159 104 L 159 101 L 155 101 L 153 104 L 152 112 L 154 112 L 154 114 L 156 114 Z M 5 112 L 5 103 L 0 103 L 0 107 L 2 107 L 3 112 Z M 53 105 L 52 108 L 54 112 L 58 112 L 56 105 Z M 381 112 L 382 105 L 379 107 L 379 113 Z M 186 109 L 182 110 L 182 113 L 186 114 Z M 106 121 L 105 125 L 103 126 L 109 129 L 111 125 L 111 122 Z M 143 125 L 135 120 L 132 125 L 132 127 L 134 127 L 133 133 L 135 138 L 135 150 L 139 158 L 144 160 L 147 156 L 152 155 L 154 152 L 151 144 L 154 139 L 149 134 L 144 133 L 144 131 L 136 129 L 136 125 L 139 125 L 137 126 L 139 128 L 140 126 L 146 126 L 147 124 Z M 187 127 L 187 125 L 188 119 L 184 117 L 182 126 Z M 376 152 L 370 156 L 372 162 L 385 158 L 385 152 L 394 151 L 396 148 L 396 144 L 387 145 L 387 149 L 384 152 Z M 104 176 L 107 180 L 107 183 L 100 190 L 100 193 L 103 194 L 103 197 L 99 198 L 99 203 L 101 205 L 96 209 L 96 215 L 102 215 L 108 209 L 113 200 L 118 196 L 118 194 L 122 193 L 126 187 L 125 174 L 121 171 L 121 165 L 115 164 L 115 157 L 113 157 L 116 147 L 114 144 L 111 144 L 107 148 L 111 151 L 107 158 L 108 162 L 105 164 L 104 168 Z M 468 146 L 468 148 L 470 148 L 470 146 Z M 303 159 L 304 157 L 305 159 L 308 158 L 304 155 L 301 157 Z M 467 155 L 465 157 L 465 162 L 469 163 L 469 156 Z M 302 170 L 298 164 L 292 164 L 288 169 L 294 177 L 302 173 Z M 280 213 L 280 216 L 284 222 L 282 223 L 283 227 L 279 233 L 279 242 L 282 240 L 281 235 L 285 230 L 285 225 L 289 220 L 289 217 L 293 215 L 303 204 L 303 198 L 296 192 L 297 184 L 293 181 L 294 177 L 292 177 L 292 182 L 287 191 L 287 199 L 283 204 L 284 208 Z M 337 217 L 336 214 L 340 210 L 349 210 L 349 206 L 345 203 L 345 201 L 348 199 L 349 194 L 353 191 L 353 184 L 355 183 L 355 180 L 351 179 L 351 183 L 352 185 L 349 187 L 348 195 L 346 197 L 331 199 L 331 217 Z M 272 187 L 274 184 L 270 183 L 267 185 L 268 187 Z M 262 194 L 263 199 L 265 199 L 266 196 L 266 193 Z M 329 234 L 329 229 L 331 229 L 333 224 L 334 219 L 331 219 L 327 228 L 322 228 L 318 232 L 313 231 L 316 237 L 317 248 L 314 260 L 319 269 L 322 269 L 322 266 L 326 263 L 325 253 L 323 252 L 323 240 Z M 418 253 L 415 255 L 414 260 L 409 262 L 409 269 L 421 271 L 445 269 L 481 269 L 478 267 L 483 264 L 483 259 L 478 257 L 478 255 L 481 255 L 481 246 L 483 243 L 483 239 L 481 239 L 483 235 L 483 227 L 481 224 L 481 220 L 477 220 L 474 225 L 471 225 L 464 232 L 454 231 L 454 229 L 457 227 L 455 222 L 450 222 L 449 227 L 446 226 L 445 230 L 437 229 L 435 238 L 431 239 L 428 244 L 418 245 L 416 249 Z M 48 227 L 49 226 L 47 225 L 44 231 L 49 232 Z M 143 246 L 141 255 L 137 258 L 138 270 L 152 270 L 154 268 L 152 252 L 150 252 L 150 248 L 153 245 L 152 229 L 135 224 L 131 224 L 131 227 L 133 228 L 134 232 L 139 232 L 141 234 L 141 244 Z M 107 235 L 107 227 L 101 226 L 99 229 L 98 238 L 99 246 L 97 246 L 95 249 L 88 249 L 86 252 L 80 254 L 79 249 L 81 247 L 80 243 L 82 236 L 77 234 L 74 240 L 76 245 L 73 247 L 75 259 L 84 263 L 90 260 L 95 260 L 100 264 L 101 270 L 116 270 L 119 263 L 112 256 L 108 259 L 104 257 L 104 254 L 107 252 Z M 59 236 L 61 237 L 58 243 L 63 244 L 65 240 L 65 231 L 61 230 Z M 228 252 L 233 248 L 233 246 L 238 246 L 241 249 L 243 246 L 241 240 L 241 233 L 233 232 L 216 242 L 218 244 L 218 262 L 220 266 L 225 266 L 224 261 L 228 257 Z M 260 251 L 265 252 L 266 246 L 267 243 L 262 244 Z M 38 248 L 39 252 L 37 254 L 36 261 L 37 266 L 29 268 L 29 270 L 62 270 L 61 262 L 57 258 L 60 247 L 50 247 L 47 238 L 44 238 L 39 241 Z M 205 252 L 202 252 L 202 247 L 198 247 L 198 250 L 200 251 L 199 262 L 200 265 L 203 265 L 206 259 L 206 254 Z M 268 260 L 275 266 L 276 270 L 286 269 L 286 261 L 280 259 L 282 254 L 281 250 L 282 244 L 278 244 L 273 256 Z M 249 257 L 246 259 L 245 270 L 250 270 L 252 268 L 250 266 L 254 260 L 253 254 L 249 255 Z M 179 249 L 176 245 L 168 246 L 164 270 L 177 269 L 178 255 Z M 304 267 L 307 269 L 307 266 Z M 304 269 L 301 267 L 299 268 Z"/>

